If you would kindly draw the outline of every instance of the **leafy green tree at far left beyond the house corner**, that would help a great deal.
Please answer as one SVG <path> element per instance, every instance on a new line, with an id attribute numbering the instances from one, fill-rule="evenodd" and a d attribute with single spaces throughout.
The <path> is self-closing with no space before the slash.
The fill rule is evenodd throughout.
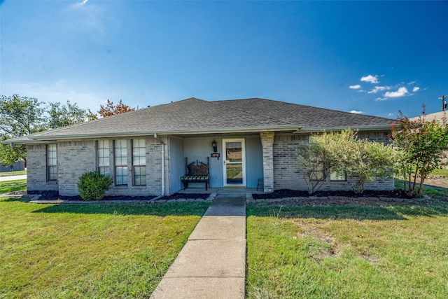
<path id="1" fill-rule="evenodd" d="M 35 98 L 13 95 L 0 97 L 0 141 L 45 130 L 44 109 Z M 0 162 L 11 165 L 26 160 L 25 146 L 0 144 Z"/>

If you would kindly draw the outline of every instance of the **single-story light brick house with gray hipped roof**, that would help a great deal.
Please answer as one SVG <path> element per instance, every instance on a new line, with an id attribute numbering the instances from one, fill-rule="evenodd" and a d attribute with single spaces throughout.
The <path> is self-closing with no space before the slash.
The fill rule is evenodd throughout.
<path id="1" fill-rule="evenodd" d="M 350 127 L 360 137 L 388 142 L 393 120 L 268 99 L 207 102 L 190 98 L 9 141 L 27 145 L 28 190 L 78 195 L 78 178 L 99 170 L 113 177 L 107 195 L 170 195 L 188 162 L 207 163 L 211 188 L 265 192 L 307 190 L 296 156 L 314 132 Z M 216 141 L 214 155 L 212 142 Z M 220 155 L 216 157 L 216 155 Z M 328 178 L 321 190 L 351 190 L 355 178 Z M 204 188 L 190 183 L 189 188 Z M 366 189 L 391 190 L 393 179 Z"/>

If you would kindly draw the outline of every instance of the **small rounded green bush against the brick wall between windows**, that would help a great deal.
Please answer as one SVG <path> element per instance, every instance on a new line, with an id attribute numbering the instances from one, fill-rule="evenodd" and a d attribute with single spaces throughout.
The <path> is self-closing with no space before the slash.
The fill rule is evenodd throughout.
<path id="1" fill-rule="evenodd" d="M 111 183 L 113 179 L 110 176 L 99 172 L 86 172 L 78 181 L 79 195 L 83 200 L 102 200 Z"/>

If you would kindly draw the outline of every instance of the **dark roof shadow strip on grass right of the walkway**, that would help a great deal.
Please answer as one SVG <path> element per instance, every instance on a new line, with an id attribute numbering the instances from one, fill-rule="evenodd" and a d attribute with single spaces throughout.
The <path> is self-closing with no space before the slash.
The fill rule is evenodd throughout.
<path id="1" fill-rule="evenodd" d="M 354 219 L 354 220 L 407 220 L 407 216 L 448 216 L 448 203 L 436 201 L 413 202 L 413 204 L 389 204 L 388 206 L 296 206 L 278 205 L 246 206 L 246 216 L 269 216 L 277 218 L 317 218 L 317 219 Z"/>

